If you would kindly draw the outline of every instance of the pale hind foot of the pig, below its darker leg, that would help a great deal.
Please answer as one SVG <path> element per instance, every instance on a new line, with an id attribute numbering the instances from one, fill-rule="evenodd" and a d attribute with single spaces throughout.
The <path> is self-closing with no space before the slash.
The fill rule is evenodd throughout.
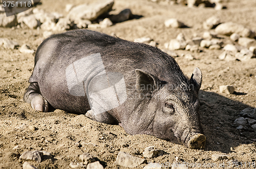
<path id="1" fill-rule="evenodd" d="M 47 112 L 49 103 L 42 97 L 42 95 L 36 95 L 31 101 L 31 107 L 37 111 Z"/>

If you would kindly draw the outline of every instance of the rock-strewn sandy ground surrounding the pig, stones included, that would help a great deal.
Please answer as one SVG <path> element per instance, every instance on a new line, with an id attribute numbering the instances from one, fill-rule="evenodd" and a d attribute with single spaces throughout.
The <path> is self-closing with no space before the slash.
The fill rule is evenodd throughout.
<path id="1" fill-rule="evenodd" d="M 256 1 L 102 3 L 41 1 L 8 18 L 0 9 L 0 168 L 255 168 Z M 80 15 L 82 4 L 97 15 Z M 86 28 L 157 46 L 188 77 L 202 70 L 204 150 L 23 102 L 42 40 Z"/>

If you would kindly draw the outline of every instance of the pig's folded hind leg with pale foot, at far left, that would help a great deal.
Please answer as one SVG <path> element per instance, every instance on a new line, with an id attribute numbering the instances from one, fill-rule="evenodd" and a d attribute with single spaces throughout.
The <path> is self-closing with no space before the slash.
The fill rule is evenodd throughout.
<path id="1" fill-rule="evenodd" d="M 27 88 L 23 100 L 31 104 L 31 107 L 38 111 L 47 112 L 50 104 L 40 94 L 38 83 L 30 83 Z"/>

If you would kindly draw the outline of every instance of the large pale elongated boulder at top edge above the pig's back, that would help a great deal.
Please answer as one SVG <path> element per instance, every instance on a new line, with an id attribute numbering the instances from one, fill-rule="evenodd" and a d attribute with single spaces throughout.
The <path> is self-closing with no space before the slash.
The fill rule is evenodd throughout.
<path id="1" fill-rule="evenodd" d="M 79 19 L 88 19 L 88 20 L 95 20 L 103 13 L 106 13 L 112 9 L 114 5 L 113 0 L 109 1 L 101 1 L 100 3 L 93 3 L 93 4 L 82 4 L 77 7 L 71 9 L 68 14 L 68 17 L 71 20 Z"/>

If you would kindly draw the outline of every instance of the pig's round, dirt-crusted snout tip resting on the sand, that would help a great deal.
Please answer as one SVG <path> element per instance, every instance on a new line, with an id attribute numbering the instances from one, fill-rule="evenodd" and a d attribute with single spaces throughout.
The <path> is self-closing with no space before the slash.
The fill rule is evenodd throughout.
<path id="1" fill-rule="evenodd" d="M 206 137 L 203 134 L 196 134 L 187 142 L 187 147 L 190 149 L 204 149 Z"/>

